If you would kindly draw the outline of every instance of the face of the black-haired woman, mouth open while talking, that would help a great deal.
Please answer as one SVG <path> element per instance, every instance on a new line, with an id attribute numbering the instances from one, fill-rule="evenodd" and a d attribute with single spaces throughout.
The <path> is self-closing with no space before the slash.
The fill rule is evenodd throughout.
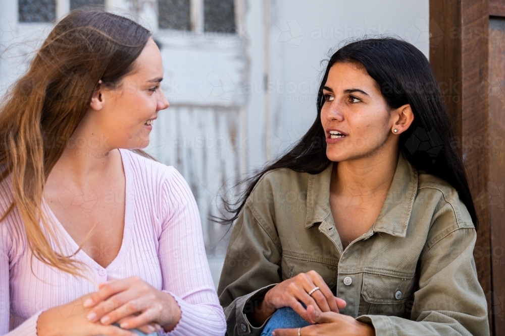
<path id="1" fill-rule="evenodd" d="M 331 161 L 372 155 L 394 137 L 390 108 L 360 64 L 335 63 L 330 68 L 323 94 L 321 122 L 326 136 L 326 155 Z"/>

